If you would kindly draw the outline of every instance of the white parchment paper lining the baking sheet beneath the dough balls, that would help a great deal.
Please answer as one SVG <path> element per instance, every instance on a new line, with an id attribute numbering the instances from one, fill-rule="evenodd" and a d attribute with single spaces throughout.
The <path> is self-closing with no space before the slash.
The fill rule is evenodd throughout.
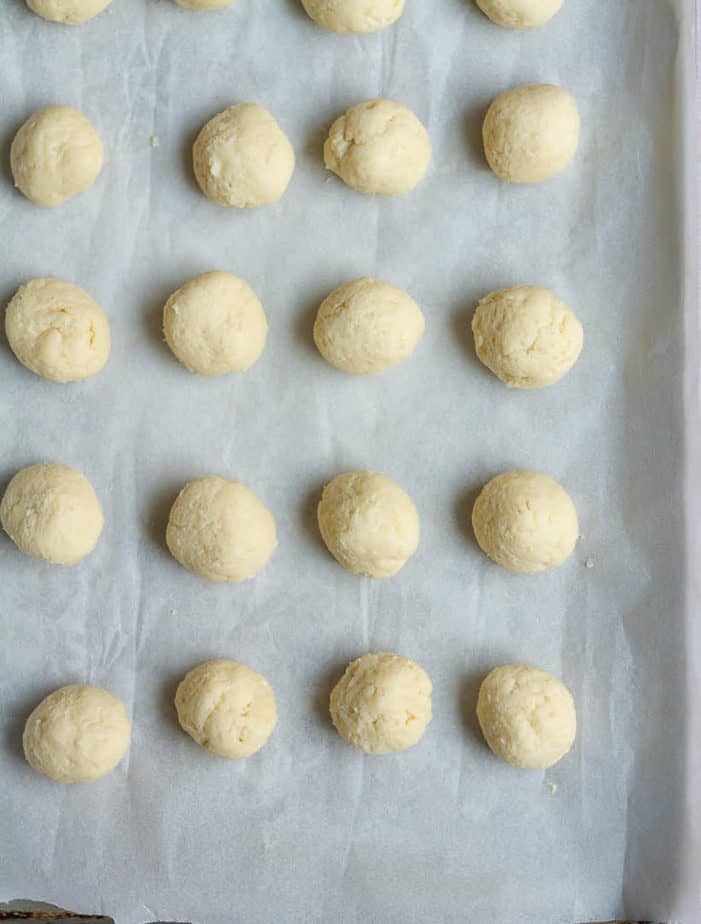
<path id="1" fill-rule="evenodd" d="M 317 29 L 297 0 L 210 14 L 114 0 L 67 29 L 5 0 L 0 294 L 33 276 L 77 282 L 109 313 L 113 353 L 97 378 L 58 386 L 0 351 L 3 483 L 63 461 L 106 516 L 70 570 L 0 542 L 0 897 L 118 924 L 696 920 L 691 26 L 683 0 L 568 0 L 523 34 L 465 0 L 409 0 L 395 28 L 354 39 Z M 581 149 L 551 183 L 505 186 L 483 163 L 481 117 L 534 81 L 574 93 Z M 333 118 L 379 95 L 413 108 L 434 144 L 425 181 L 390 201 L 346 189 L 320 156 Z M 189 150 L 244 100 L 277 115 L 297 169 L 280 203 L 239 213 L 198 193 Z M 107 161 L 91 192 L 49 212 L 12 190 L 7 150 L 58 102 L 94 121 Z M 251 282 L 270 335 L 250 372 L 206 381 L 169 354 L 160 312 L 213 268 Z M 405 287 L 427 330 L 410 362 L 358 380 L 315 353 L 311 325 L 363 274 Z M 585 327 L 581 360 L 544 392 L 507 391 L 470 346 L 477 299 L 519 282 L 552 288 Z M 347 574 L 317 534 L 322 484 L 356 468 L 396 479 L 421 514 L 420 550 L 392 581 Z M 574 497 L 582 538 L 564 567 L 512 576 L 476 548 L 474 492 L 509 468 Z M 198 581 L 164 548 L 178 489 L 208 472 L 244 481 L 277 519 L 273 560 L 239 587 Z M 327 700 L 345 662 L 376 649 L 429 671 L 435 718 L 420 746 L 372 759 L 335 734 Z M 172 707 L 183 673 L 218 656 L 263 672 L 278 698 L 274 736 L 240 764 L 198 749 Z M 576 746 L 545 773 L 502 765 L 477 733 L 479 681 L 511 661 L 575 696 Z M 21 729 L 76 681 L 125 700 L 133 739 L 111 776 L 61 787 L 24 763 Z"/>

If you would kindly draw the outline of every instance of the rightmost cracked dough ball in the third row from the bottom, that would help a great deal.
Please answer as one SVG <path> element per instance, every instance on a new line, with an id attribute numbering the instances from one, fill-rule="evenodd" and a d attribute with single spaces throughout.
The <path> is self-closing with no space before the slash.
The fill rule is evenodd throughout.
<path id="1" fill-rule="evenodd" d="M 584 342 L 582 325 L 567 305 L 538 286 L 514 286 L 487 295 L 472 319 L 480 360 L 514 388 L 544 388 L 568 372 Z"/>

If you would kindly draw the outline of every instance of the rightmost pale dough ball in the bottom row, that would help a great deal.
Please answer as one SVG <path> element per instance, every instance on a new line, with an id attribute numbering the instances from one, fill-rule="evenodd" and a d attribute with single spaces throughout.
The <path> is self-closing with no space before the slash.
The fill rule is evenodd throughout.
<path id="1" fill-rule="evenodd" d="M 552 767 L 577 734 L 570 691 L 556 677 L 525 664 L 497 667 L 485 677 L 477 718 L 497 757 L 527 770 Z"/>

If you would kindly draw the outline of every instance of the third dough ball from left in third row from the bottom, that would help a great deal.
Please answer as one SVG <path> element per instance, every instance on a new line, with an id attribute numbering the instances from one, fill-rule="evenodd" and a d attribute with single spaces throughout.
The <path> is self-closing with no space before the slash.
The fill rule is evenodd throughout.
<path id="1" fill-rule="evenodd" d="M 411 356 L 424 327 L 421 309 L 403 289 L 363 278 L 324 299 L 314 324 L 314 342 L 332 366 L 369 375 Z"/>

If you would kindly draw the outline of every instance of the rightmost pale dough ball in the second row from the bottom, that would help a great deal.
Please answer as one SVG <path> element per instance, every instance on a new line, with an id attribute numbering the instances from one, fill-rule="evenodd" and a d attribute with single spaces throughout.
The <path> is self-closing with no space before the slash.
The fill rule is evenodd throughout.
<path id="1" fill-rule="evenodd" d="M 561 565 L 579 537 L 571 497 L 540 472 L 492 478 L 475 501 L 472 527 L 483 552 L 508 571 L 524 574 Z"/>

